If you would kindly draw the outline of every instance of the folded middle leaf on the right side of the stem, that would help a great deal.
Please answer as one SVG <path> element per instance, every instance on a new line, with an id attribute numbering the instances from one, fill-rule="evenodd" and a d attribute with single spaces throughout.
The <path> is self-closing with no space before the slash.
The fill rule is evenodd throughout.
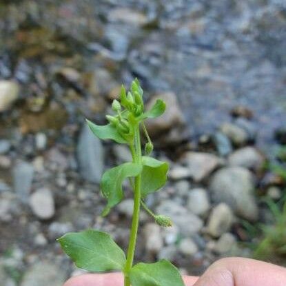
<path id="1" fill-rule="evenodd" d="M 152 157 L 142 157 L 141 194 L 143 197 L 159 190 L 167 180 L 169 165 Z"/>

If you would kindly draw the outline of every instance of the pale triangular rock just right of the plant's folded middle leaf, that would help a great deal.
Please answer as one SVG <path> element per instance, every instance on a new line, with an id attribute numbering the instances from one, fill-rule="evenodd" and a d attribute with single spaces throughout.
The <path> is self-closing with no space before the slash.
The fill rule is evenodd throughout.
<path id="1" fill-rule="evenodd" d="M 187 152 L 183 157 L 183 163 L 187 166 L 190 176 L 195 182 L 203 181 L 209 176 L 221 160 L 213 154 L 203 152 Z"/>

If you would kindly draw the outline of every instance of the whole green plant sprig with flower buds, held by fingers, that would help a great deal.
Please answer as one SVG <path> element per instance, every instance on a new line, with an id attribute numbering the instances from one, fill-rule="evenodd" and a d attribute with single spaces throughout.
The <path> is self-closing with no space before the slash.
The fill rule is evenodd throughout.
<path id="1" fill-rule="evenodd" d="M 65 234 L 58 241 L 78 267 L 90 272 L 123 272 L 125 286 L 183 286 L 178 270 L 169 261 L 133 265 L 141 205 L 159 225 L 172 225 L 170 218 L 154 214 L 143 201 L 148 194 L 165 185 L 168 165 L 149 156 L 153 145 L 144 125 L 145 119 L 154 119 L 165 112 L 165 103 L 157 100 L 150 110 L 145 111 L 142 96 L 143 90 L 135 79 L 129 92 L 126 93 L 125 88 L 121 88 L 120 102 L 113 101 L 112 110 L 116 114 L 106 116 L 109 121 L 107 125 L 100 126 L 87 121 L 90 130 L 100 139 L 112 139 L 116 143 L 126 144 L 132 154 L 132 162 L 113 167 L 101 179 L 101 192 L 108 201 L 103 216 L 121 202 L 122 183 L 126 178 L 130 181 L 134 193 L 134 210 L 127 256 L 109 234 L 94 229 Z M 147 139 L 145 156 L 142 156 L 141 151 L 141 130 Z"/>

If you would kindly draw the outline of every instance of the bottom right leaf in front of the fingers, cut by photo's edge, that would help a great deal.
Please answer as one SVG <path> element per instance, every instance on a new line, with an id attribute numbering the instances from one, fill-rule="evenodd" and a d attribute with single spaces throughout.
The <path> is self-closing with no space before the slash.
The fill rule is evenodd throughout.
<path id="1" fill-rule="evenodd" d="M 169 261 L 138 263 L 130 271 L 132 286 L 184 286 L 178 269 Z"/>

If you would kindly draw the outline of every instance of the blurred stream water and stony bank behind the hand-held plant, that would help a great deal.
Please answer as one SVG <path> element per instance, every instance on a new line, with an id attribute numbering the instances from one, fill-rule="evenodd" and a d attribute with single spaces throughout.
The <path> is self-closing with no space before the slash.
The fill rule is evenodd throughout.
<path id="1" fill-rule="evenodd" d="M 169 182 L 144 212 L 136 260 L 199 275 L 223 256 L 286 265 L 284 0 L 0 1 L 0 284 L 81 273 L 55 239 L 95 227 L 127 247 L 132 200 L 107 218 L 103 171 L 130 160 L 97 140 L 121 83 L 167 103 L 148 124 Z"/>

